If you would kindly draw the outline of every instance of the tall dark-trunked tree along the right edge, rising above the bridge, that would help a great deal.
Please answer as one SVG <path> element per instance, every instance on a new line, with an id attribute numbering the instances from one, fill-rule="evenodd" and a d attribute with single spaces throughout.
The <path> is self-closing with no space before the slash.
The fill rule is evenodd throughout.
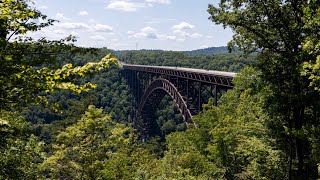
<path id="1" fill-rule="evenodd" d="M 319 138 L 320 99 L 301 70 L 305 62 L 315 62 L 319 52 L 303 48 L 308 39 L 319 40 L 318 16 L 313 16 L 319 4 L 318 0 L 221 0 L 219 7 L 208 9 L 213 22 L 234 31 L 229 47 L 259 53 L 261 79 L 271 89 L 265 102 L 273 120 L 269 126 L 288 156 L 289 179 L 317 177 L 318 162 L 309 139 Z"/>

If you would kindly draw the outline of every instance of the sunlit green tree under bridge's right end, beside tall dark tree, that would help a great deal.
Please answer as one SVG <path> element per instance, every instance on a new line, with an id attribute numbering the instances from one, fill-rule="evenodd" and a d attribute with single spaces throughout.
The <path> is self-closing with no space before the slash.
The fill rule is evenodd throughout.
<path id="1" fill-rule="evenodd" d="M 195 118 L 199 131 L 210 137 L 208 158 L 227 179 L 282 179 L 283 154 L 275 149 L 263 110 L 268 89 L 253 68 L 245 68 L 234 80 L 235 88 Z M 257 92 L 258 90 L 258 92 Z M 281 178 L 282 177 L 282 178 Z"/>

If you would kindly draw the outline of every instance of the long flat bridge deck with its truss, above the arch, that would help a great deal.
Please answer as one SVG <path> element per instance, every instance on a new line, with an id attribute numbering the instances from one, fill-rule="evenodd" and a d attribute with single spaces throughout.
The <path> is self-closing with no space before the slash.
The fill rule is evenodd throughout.
<path id="1" fill-rule="evenodd" d="M 134 70 L 148 73 L 156 73 L 162 75 L 176 76 L 179 78 L 186 78 L 204 83 L 221 85 L 225 87 L 233 87 L 232 79 L 237 73 L 212 71 L 204 69 L 182 68 L 182 67 L 169 67 L 169 66 L 147 66 L 147 65 L 133 65 L 123 64 L 120 65 L 125 70 Z"/>

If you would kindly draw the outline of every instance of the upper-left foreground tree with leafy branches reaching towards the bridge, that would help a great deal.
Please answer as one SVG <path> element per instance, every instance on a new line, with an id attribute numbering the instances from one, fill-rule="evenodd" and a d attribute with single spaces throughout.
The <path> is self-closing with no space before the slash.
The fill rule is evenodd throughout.
<path id="1" fill-rule="evenodd" d="M 20 102 L 39 102 L 44 99 L 40 92 L 69 89 L 80 93 L 95 86 L 87 82 L 72 83 L 72 79 L 108 68 L 115 58 L 106 56 L 100 62 L 72 67 L 66 64 L 56 67 L 60 59 L 68 59 L 75 52 L 92 49 L 77 48 L 74 37 L 48 41 L 26 37 L 28 32 L 53 25 L 40 11 L 30 6 L 29 0 L 0 1 L 0 109 L 9 109 Z M 44 23 L 35 23 L 42 19 Z"/>

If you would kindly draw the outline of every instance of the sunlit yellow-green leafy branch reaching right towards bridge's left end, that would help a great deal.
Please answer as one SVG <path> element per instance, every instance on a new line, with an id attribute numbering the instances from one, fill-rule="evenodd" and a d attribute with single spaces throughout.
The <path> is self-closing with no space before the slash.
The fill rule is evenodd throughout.
<path id="1" fill-rule="evenodd" d="M 24 70 L 15 74 L 15 77 L 13 77 L 16 81 L 20 82 L 19 87 L 14 87 L 11 91 L 8 91 L 6 100 L 8 100 L 8 97 L 15 98 L 17 94 L 19 94 L 20 98 L 24 98 L 28 101 L 33 94 L 43 91 L 49 93 L 53 92 L 55 89 L 66 89 L 77 93 L 89 91 L 96 86 L 91 82 L 77 85 L 72 82 L 72 79 L 109 68 L 111 63 L 117 64 L 117 61 L 115 57 L 109 54 L 99 62 L 89 62 L 84 66 L 77 66 L 74 68 L 72 67 L 72 64 L 66 64 L 62 68 L 56 70 L 51 70 L 48 67 L 41 69 L 34 67 L 23 68 Z M 24 86 L 21 86 L 22 84 Z M 32 88 L 25 88 L 28 86 L 31 86 Z M 38 96 L 40 99 L 42 97 L 43 96 Z"/>

